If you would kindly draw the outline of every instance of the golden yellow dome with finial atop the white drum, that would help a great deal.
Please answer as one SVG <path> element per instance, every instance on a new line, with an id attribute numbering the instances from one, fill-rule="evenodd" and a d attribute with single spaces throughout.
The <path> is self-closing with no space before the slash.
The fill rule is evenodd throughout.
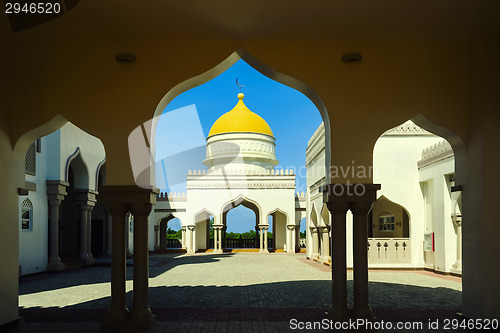
<path id="1" fill-rule="evenodd" d="M 239 93 L 239 101 L 236 106 L 215 121 L 208 136 L 222 133 L 250 132 L 267 134 L 274 137 L 271 127 L 269 127 L 261 116 L 247 108 L 245 103 L 243 103 L 243 98 L 245 98 L 245 95 Z"/>

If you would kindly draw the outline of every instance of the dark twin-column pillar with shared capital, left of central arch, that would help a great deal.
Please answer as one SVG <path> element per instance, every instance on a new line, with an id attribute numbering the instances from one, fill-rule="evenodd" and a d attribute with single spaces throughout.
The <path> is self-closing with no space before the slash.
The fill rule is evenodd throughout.
<path id="1" fill-rule="evenodd" d="M 154 315 L 148 305 L 148 217 L 156 202 L 156 191 L 137 186 L 103 186 L 103 202 L 113 216 L 113 257 L 111 260 L 111 307 L 103 320 L 106 329 L 149 329 Z M 134 307 L 125 306 L 126 249 L 129 225 L 125 215 L 132 210 L 134 223 Z"/>

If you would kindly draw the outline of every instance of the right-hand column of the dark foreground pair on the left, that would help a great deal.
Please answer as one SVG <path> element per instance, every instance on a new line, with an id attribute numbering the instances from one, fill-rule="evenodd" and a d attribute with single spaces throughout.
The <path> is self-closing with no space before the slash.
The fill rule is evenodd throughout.
<path id="1" fill-rule="evenodd" d="M 149 201 L 131 204 L 131 212 L 134 216 L 134 305 L 131 311 L 131 319 L 135 328 L 151 328 L 155 321 L 148 302 L 148 225 L 149 214 L 153 208 L 153 203 L 156 201 L 156 195 L 153 194 L 151 192 Z"/>

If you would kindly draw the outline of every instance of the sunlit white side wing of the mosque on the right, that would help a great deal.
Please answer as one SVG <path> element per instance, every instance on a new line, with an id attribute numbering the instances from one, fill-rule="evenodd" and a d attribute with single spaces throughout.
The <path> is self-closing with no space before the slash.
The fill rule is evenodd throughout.
<path id="1" fill-rule="evenodd" d="M 330 265 L 331 215 L 323 203 L 323 124 L 309 140 L 307 257 Z M 408 121 L 388 130 L 373 151 L 373 182 L 381 184 L 369 219 L 370 268 L 428 269 L 461 275 L 460 189 L 448 142 Z M 347 267 L 353 267 L 353 216 L 347 214 Z"/>

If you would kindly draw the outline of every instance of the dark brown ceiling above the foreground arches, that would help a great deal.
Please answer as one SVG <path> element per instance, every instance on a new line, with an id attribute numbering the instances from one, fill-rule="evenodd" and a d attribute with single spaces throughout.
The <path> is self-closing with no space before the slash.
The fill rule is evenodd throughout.
<path id="1" fill-rule="evenodd" d="M 462 39 L 499 27 L 496 0 L 66 0 L 74 7 L 5 40 Z M 12 16 L 11 16 L 12 19 Z"/>

